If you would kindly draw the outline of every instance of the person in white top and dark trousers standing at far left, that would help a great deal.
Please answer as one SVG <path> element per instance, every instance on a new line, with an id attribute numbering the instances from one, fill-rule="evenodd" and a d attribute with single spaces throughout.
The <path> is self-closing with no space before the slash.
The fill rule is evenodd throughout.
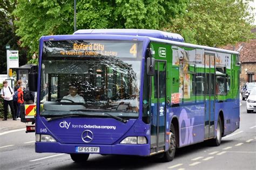
<path id="1" fill-rule="evenodd" d="M 16 121 L 15 113 L 14 113 L 14 102 L 12 96 L 14 96 L 14 90 L 8 86 L 8 82 L 6 80 L 3 81 L 4 87 L 1 90 L 1 97 L 4 99 L 4 119 L 2 121 L 7 121 L 7 110 L 8 105 L 11 109 L 12 119 Z"/>

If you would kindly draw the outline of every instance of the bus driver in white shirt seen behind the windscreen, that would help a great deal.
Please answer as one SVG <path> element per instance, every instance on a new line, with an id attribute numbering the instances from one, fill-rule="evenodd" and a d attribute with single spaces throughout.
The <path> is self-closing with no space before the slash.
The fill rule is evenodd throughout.
<path id="1" fill-rule="evenodd" d="M 69 86 L 69 95 L 64 96 L 63 98 L 69 99 L 75 103 L 85 103 L 84 98 L 77 94 L 77 87 L 74 85 Z M 62 100 L 61 102 L 70 102 L 68 100 Z"/>

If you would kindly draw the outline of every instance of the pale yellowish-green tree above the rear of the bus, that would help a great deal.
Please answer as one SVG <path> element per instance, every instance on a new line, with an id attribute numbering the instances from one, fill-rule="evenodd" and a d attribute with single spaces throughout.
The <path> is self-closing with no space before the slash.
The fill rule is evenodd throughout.
<path id="1" fill-rule="evenodd" d="M 186 13 L 165 30 L 180 33 L 186 42 L 223 46 L 251 38 L 253 16 L 242 1 L 190 0 Z"/>

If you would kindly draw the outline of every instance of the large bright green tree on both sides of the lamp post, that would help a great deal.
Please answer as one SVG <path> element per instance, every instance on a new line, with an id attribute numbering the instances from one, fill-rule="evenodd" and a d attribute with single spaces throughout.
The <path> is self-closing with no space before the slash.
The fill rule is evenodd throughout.
<path id="1" fill-rule="evenodd" d="M 188 0 L 79 0 L 77 29 L 161 29 Z M 19 0 L 14 15 L 21 46 L 38 51 L 41 36 L 73 33 L 73 1 Z"/>

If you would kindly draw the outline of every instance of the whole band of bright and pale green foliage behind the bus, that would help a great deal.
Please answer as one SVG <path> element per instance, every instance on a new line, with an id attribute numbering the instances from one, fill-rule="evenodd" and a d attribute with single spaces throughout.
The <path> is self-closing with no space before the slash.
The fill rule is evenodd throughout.
<path id="1" fill-rule="evenodd" d="M 39 38 L 73 33 L 73 1 L 18 0 L 12 13 L 28 56 Z M 159 29 L 180 33 L 193 44 L 221 46 L 252 38 L 252 16 L 241 0 L 79 0 L 79 29 Z M 37 63 L 30 60 L 29 63 Z"/>

